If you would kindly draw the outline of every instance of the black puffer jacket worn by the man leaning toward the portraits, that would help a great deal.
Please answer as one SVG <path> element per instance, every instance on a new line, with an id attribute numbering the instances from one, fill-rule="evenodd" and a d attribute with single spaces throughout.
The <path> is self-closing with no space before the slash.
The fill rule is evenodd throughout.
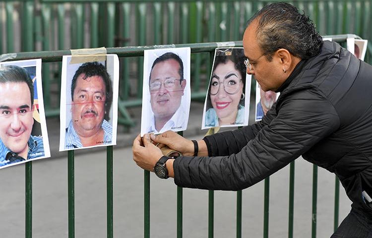
<path id="1" fill-rule="evenodd" d="M 175 183 L 239 190 L 303 158 L 335 173 L 353 206 L 372 194 L 372 66 L 337 43 L 302 60 L 262 121 L 207 136 L 211 157 L 175 160 Z"/>

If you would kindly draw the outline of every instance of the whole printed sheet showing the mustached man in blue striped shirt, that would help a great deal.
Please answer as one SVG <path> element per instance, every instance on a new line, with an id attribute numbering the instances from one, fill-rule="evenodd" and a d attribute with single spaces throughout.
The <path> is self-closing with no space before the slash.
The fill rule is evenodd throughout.
<path id="1" fill-rule="evenodd" d="M 60 151 L 116 145 L 119 59 L 104 58 L 63 56 Z"/>

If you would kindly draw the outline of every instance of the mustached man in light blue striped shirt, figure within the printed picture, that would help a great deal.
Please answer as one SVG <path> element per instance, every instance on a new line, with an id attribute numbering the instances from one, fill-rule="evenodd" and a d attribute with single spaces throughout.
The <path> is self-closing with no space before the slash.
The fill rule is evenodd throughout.
<path id="1" fill-rule="evenodd" d="M 65 149 L 112 143 L 109 120 L 112 82 L 99 62 L 79 66 L 71 81 L 71 120 L 65 131 Z"/>

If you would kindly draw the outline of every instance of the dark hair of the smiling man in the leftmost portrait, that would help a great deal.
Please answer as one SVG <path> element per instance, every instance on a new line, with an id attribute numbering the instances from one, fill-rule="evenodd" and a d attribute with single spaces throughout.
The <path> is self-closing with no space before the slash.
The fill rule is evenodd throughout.
<path id="1" fill-rule="evenodd" d="M 34 85 L 27 71 L 17 65 L 4 65 L 0 67 L 0 83 L 21 83 L 25 82 L 30 89 L 31 106 L 34 104 Z"/>

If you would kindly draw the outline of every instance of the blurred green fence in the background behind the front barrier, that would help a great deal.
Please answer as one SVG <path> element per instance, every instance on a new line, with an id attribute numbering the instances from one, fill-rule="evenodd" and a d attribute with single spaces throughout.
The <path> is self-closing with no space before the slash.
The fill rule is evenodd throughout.
<path id="1" fill-rule="evenodd" d="M 247 19 L 276 0 L 5 0 L 0 2 L 0 54 L 96 47 L 239 41 Z M 372 40 L 372 0 L 292 0 L 322 35 L 353 33 Z M 4 15 L 2 17 L 2 15 Z M 369 43 L 371 49 L 371 43 Z M 369 61 L 367 55 L 367 61 Z M 194 100 L 208 81 L 208 54 L 192 56 Z M 141 105 L 143 59 L 121 60 L 119 123 Z M 60 63 L 43 64 L 46 115 L 59 115 Z M 196 94 L 196 92 L 200 92 Z"/>

